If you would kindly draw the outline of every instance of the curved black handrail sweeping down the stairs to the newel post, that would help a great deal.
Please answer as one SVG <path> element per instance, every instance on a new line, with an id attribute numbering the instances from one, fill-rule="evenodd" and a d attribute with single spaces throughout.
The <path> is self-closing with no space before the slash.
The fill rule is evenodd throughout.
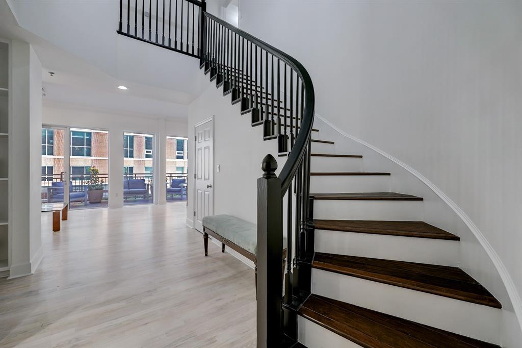
<path id="1" fill-rule="evenodd" d="M 304 157 L 304 154 L 306 152 L 307 145 L 310 141 L 311 135 L 312 135 L 312 125 L 314 123 L 314 106 L 315 106 L 315 93 L 314 93 L 314 86 L 312 84 L 312 79 L 310 78 L 309 73 L 306 71 L 304 66 L 296 60 L 294 57 L 288 55 L 287 53 L 284 53 L 283 51 L 275 48 L 274 46 L 259 40 L 258 38 L 252 36 L 251 34 L 234 27 L 233 25 L 229 24 L 228 22 L 213 16 L 209 14 L 208 12 L 204 13 L 204 16 L 215 20 L 220 25 L 232 30 L 235 33 L 238 33 L 240 36 L 244 37 L 247 40 L 252 41 L 258 47 L 265 49 L 266 51 L 270 52 L 271 54 L 277 56 L 279 59 L 281 59 L 283 62 L 287 63 L 293 69 L 295 72 L 299 75 L 301 78 L 301 81 L 304 86 L 305 91 L 305 103 L 304 103 L 304 110 L 303 110 L 303 116 L 301 119 L 301 130 L 298 134 L 298 136 L 295 138 L 295 143 L 292 149 L 290 150 L 290 154 L 288 155 L 287 161 L 284 164 L 283 168 L 279 172 L 279 178 L 281 179 L 281 196 L 284 195 L 284 193 L 288 190 L 288 187 L 290 186 L 290 183 L 292 182 L 292 179 L 298 170 L 298 167 L 301 163 L 301 159 Z"/>

